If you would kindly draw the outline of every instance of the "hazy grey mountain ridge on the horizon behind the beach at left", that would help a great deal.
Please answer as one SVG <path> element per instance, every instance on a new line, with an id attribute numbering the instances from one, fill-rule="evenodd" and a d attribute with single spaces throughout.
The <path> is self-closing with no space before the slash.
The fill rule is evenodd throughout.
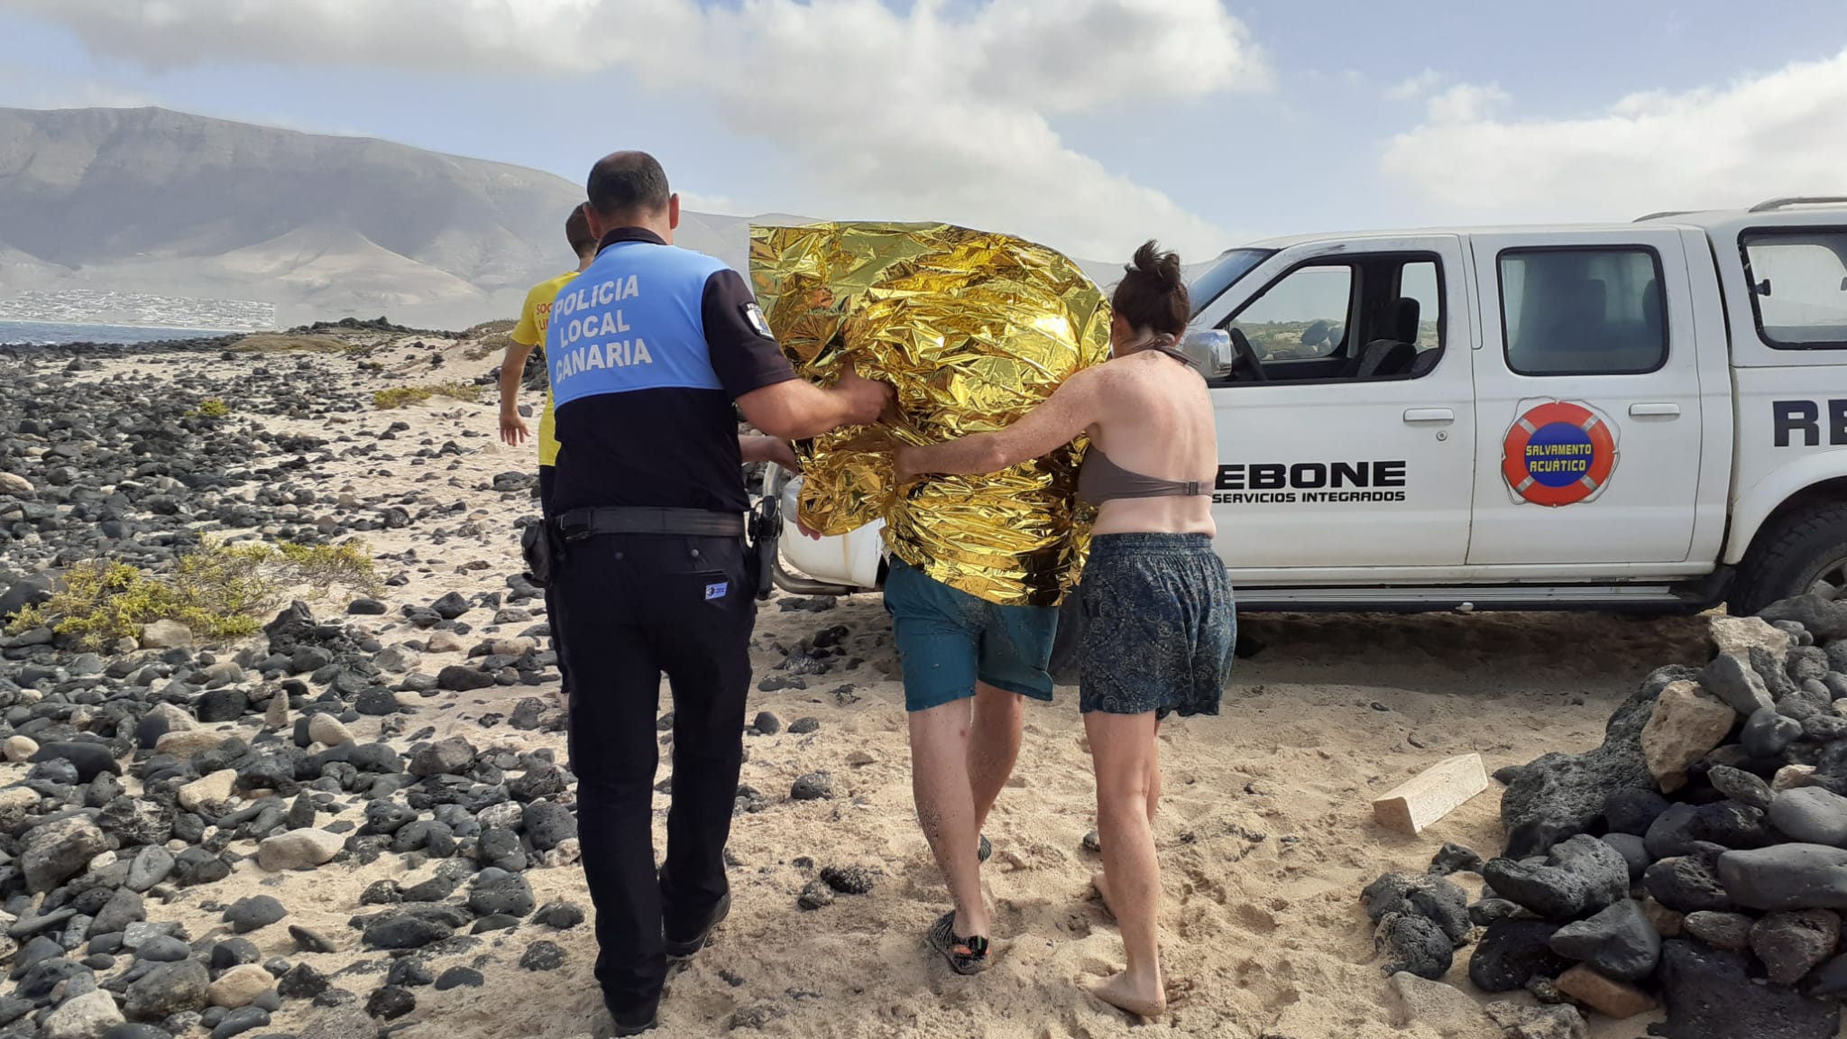
<path id="1" fill-rule="evenodd" d="M 0 107 L 0 296 L 151 292 L 272 303 L 283 325 L 384 312 L 462 327 L 569 270 L 563 220 L 582 198 L 554 174 L 375 137 Z M 744 270 L 754 222 L 805 218 L 687 211 L 676 244 Z"/>

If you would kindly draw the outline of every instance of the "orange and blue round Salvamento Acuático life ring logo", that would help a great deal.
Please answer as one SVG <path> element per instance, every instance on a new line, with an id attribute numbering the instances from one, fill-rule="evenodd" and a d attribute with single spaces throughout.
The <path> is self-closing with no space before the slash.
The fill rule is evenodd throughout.
<path id="1" fill-rule="evenodd" d="M 1526 407 L 1502 440 L 1515 501 L 1557 508 L 1592 501 L 1616 471 L 1616 427 L 1575 401 Z"/>

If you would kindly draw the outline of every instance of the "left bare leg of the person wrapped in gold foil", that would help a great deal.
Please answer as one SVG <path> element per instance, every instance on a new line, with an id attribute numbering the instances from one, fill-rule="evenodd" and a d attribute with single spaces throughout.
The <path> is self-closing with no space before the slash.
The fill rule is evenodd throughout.
<path id="1" fill-rule="evenodd" d="M 972 699 L 911 712 L 911 795 L 924 837 L 955 900 L 957 937 L 988 934 L 977 858 L 981 828 L 968 776 L 973 712 Z"/>

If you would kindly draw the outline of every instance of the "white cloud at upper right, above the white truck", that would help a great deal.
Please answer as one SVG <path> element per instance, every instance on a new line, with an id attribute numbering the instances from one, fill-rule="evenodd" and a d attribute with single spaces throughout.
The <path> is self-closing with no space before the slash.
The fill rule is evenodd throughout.
<path id="1" fill-rule="evenodd" d="M 1518 120 L 1459 85 L 1387 144 L 1382 168 L 1446 216 L 1624 220 L 1847 189 L 1847 52 L 1723 87 L 1651 91 L 1581 118 Z"/>

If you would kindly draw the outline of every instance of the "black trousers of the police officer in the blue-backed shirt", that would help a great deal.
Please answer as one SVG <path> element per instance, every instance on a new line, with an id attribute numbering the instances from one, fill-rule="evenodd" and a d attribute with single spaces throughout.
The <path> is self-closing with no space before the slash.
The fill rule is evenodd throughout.
<path id="1" fill-rule="evenodd" d="M 600 534 L 554 581 L 571 669 L 571 771 L 597 906 L 597 982 L 619 1013 L 659 1000 L 665 935 L 691 939 L 726 895 L 757 601 L 739 538 Z M 674 697 L 667 862 L 654 863 L 661 673 Z"/>

